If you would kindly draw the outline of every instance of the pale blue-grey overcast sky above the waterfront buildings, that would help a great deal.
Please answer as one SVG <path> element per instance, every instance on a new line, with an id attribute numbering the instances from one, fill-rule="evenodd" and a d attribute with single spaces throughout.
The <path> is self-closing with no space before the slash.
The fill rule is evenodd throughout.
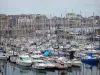
<path id="1" fill-rule="evenodd" d="M 0 14 L 100 15 L 100 0 L 0 0 Z"/>

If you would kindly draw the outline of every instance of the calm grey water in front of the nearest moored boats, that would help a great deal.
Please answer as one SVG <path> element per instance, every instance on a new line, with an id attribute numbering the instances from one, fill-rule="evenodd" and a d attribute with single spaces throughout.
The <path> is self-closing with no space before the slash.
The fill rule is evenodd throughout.
<path id="1" fill-rule="evenodd" d="M 100 69 L 83 64 L 80 68 L 69 68 L 68 70 L 36 70 L 0 61 L 0 75 L 100 75 Z"/>

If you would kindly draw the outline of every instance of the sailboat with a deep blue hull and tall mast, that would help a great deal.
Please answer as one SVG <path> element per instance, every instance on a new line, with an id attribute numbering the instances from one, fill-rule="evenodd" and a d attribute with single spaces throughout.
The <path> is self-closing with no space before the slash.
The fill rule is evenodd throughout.
<path id="1" fill-rule="evenodd" d="M 94 16 L 94 14 L 93 14 Z M 94 21 L 93 21 L 94 22 Z M 92 25 L 93 27 L 91 27 L 91 32 L 93 32 L 93 38 L 94 38 L 94 25 Z M 93 30 L 93 31 L 92 31 Z M 86 55 L 84 57 L 81 58 L 81 61 L 85 64 L 96 64 L 98 62 L 98 58 L 94 57 L 92 54 L 93 54 L 93 49 L 95 48 L 94 46 L 94 40 L 90 40 L 90 44 L 86 45 L 84 48 L 85 50 L 91 50 L 89 52 L 89 55 Z M 92 42 L 93 41 L 93 42 Z"/>

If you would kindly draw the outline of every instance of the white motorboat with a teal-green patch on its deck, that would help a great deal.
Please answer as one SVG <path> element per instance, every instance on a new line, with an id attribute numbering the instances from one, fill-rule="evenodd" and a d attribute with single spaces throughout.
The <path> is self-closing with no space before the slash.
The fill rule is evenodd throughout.
<path id="1" fill-rule="evenodd" d="M 27 54 L 21 54 L 18 55 L 18 58 L 16 59 L 16 64 L 22 66 L 31 66 L 32 60 Z"/>

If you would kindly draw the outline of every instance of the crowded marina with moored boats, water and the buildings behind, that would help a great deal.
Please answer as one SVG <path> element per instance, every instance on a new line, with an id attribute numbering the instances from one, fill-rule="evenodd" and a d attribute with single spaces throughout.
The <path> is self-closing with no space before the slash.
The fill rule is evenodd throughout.
<path id="1" fill-rule="evenodd" d="M 2 75 L 99 75 L 100 20 L 69 15 L 1 15 Z"/>

